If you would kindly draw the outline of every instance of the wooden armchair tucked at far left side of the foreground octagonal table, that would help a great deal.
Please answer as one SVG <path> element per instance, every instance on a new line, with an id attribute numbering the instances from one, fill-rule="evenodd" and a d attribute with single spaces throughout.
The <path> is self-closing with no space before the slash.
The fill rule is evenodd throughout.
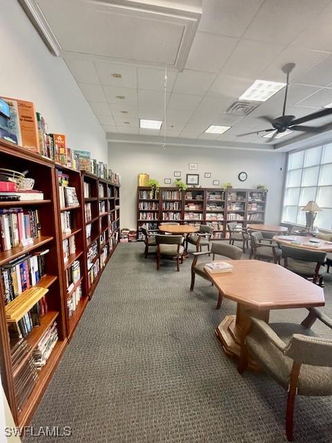
<path id="1" fill-rule="evenodd" d="M 219 255 L 218 260 L 240 260 L 242 255 L 242 249 L 238 248 L 237 246 L 232 246 L 232 244 L 225 244 L 221 242 L 212 242 L 211 244 L 211 251 L 212 253 L 212 260 L 215 259 L 216 255 Z M 210 277 L 208 273 L 205 272 L 204 266 L 206 263 L 209 262 L 199 262 L 199 257 L 203 255 L 210 255 L 209 251 L 205 252 L 194 252 L 194 260 L 192 261 L 192 283 L 190 285 L 190 291 L 194 291 L 194 284 L 195 284 L 195 276 L 196 274 L 200 277 L 205 278 L 205 280 L 210 280 Z M 218 303 L 216 305 L 216 309 L 219 309 L 221 307 L 221 302 L 223 300 L 223 296 L 221 293 L 219 293 Z"/>

